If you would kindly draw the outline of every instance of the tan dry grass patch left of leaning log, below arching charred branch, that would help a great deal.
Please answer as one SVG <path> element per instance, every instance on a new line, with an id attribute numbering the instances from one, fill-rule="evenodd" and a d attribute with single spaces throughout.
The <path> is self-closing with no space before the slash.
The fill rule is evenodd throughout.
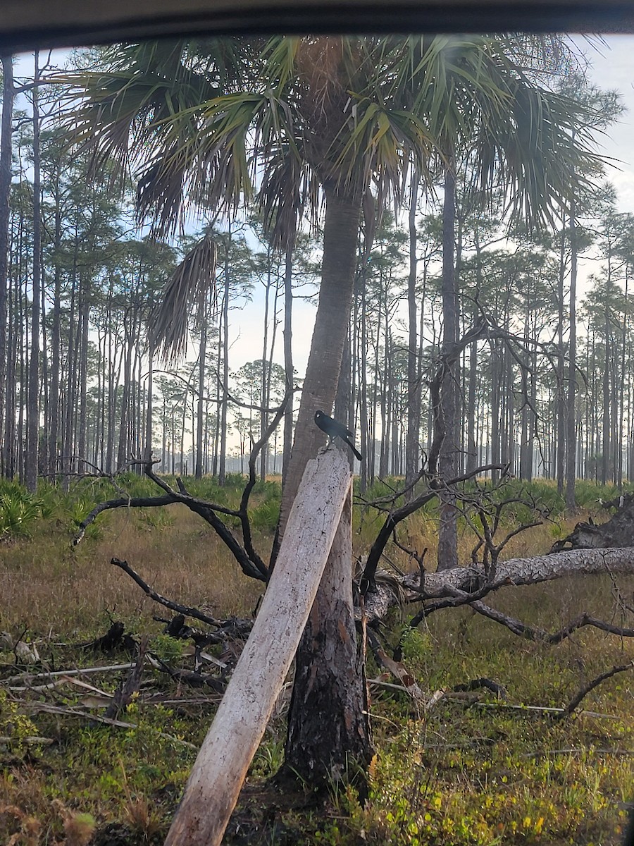
<path id="1" fill-rule="evenodd" d="M 139 511 L 108 515 L 97 538 L 88 536 L 78 547 L 59 526 L 0 547 L 0 625 L 67 634 L 94 631 L 96 618 L 107 613 L 124 620 L 160 615 L 156 602 L 112 567 L 113 557 L 127 560 L 175 602 L 205 606 L 219 616 L 249 616 L 263 585 L 242 574 L 188 508 L 173 505 L 163 514 L 161 520 L 156 512 L 147 518 Z"/>

